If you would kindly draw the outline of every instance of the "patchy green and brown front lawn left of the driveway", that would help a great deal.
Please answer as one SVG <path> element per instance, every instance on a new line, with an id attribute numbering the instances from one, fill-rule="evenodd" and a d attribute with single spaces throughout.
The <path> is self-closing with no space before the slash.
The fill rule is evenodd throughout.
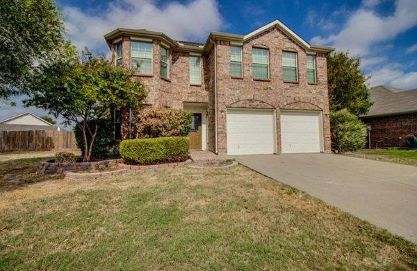
<path id="1" fill-rule="evenodd" d="M 416 245 L 243 166 L 36 181 L 0 191 L 0 270 L 417 268 Z"/>

